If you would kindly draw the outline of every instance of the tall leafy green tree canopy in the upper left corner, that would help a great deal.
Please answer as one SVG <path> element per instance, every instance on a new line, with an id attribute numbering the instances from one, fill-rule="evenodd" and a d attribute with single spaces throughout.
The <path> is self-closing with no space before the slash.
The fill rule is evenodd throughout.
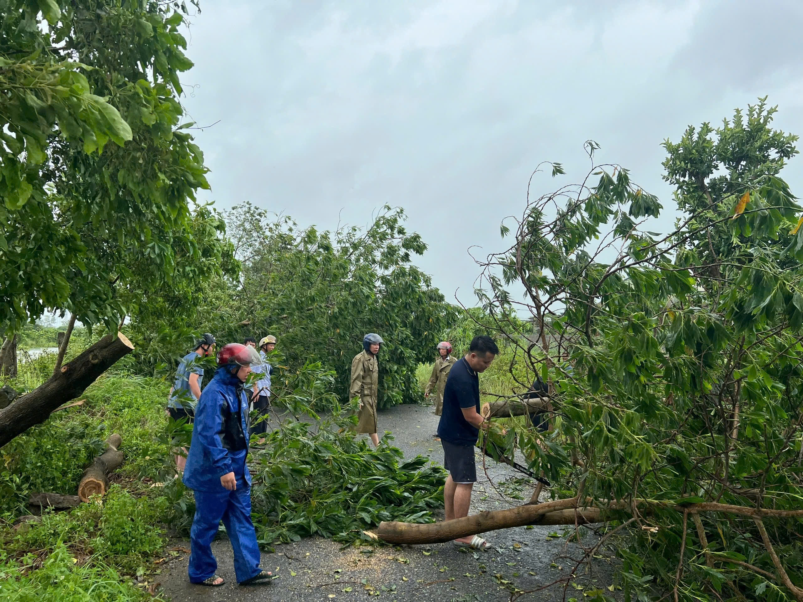
<path id="1" fill-rule="evenodd" d="M 185 5 L 0 0 L 0 325 L 116 327 L 153 291 L 190 302 L 230 248 L 181 124 Z M 173 309 L 175 309 L 173 307 Z"/>

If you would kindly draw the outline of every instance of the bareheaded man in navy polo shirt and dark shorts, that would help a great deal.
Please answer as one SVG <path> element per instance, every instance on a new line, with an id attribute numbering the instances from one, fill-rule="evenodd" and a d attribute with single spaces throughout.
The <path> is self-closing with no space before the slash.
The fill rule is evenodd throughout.
<path id="1" fill-rule="evenodd" d="M 443 391 L 443 413 L 438 437 L 443 445 L 444 466 L 449 471 L 443 487 L 446 520 L 462 519 L 471 505 L 471 488 L 477 481 L 474 447 L 485 419 L 479 414 L 479 372 L 499 354 L 490 336 L 475 336 L 468 353 L 449 372 Z M 486 550 L 491 547 L 479 535 L 454 540 L 458 547 Z"/>

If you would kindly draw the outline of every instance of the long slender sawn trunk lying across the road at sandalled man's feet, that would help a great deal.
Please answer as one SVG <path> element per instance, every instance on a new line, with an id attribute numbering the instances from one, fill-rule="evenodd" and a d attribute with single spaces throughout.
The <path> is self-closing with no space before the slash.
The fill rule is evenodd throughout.
<path id="1" fill-rule="evenodd" d="M 585 499 L 586 504 L 593 501 Z M 604 508 L 584 506 L 577 508 L 577 498 L 557 499 L 542 504 L 516 506 L 508 510 L 480 512 L 478 515 L 466 516 L 444 523 L 397 523 L 395 521 L 380 523 L 374 534 L 387 543 L 442 543 L 467 535 L 478 535 L 496 529 L 524 527 L 525 525 L 573 525 L 587 523 L 605 523 L 622 516 L 622 512 L 630 514 L 636 506 L 646 506 L 641 511 L 649 513 L 651 507 L 662 507 L 690 514 L 698 512 L 724 512 L 726 514 L 748 516 L 751 518 L 772 517 L 777 519 L 803 518 L 803 510 L 771 510 L 734 506 L 717 502 L 697 504 L 678 504 L 659 500 L 637 499 L 633 502 L 605 502 Z"/>

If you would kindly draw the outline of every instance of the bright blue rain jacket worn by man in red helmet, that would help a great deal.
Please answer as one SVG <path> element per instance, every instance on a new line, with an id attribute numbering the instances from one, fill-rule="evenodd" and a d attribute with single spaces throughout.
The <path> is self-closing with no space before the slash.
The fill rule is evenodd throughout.
<path id="1" fill-rule="evenodd" d="M 243 381 L 230 374 L 228 368 L 218 368 L 195 408 L 184 484 L 193 490 L 227 493 L 220 478 L 234 472 L 238 488 L 243 482 L 251 486 L 251 473 L 246 466 L 248 427 Z"/>

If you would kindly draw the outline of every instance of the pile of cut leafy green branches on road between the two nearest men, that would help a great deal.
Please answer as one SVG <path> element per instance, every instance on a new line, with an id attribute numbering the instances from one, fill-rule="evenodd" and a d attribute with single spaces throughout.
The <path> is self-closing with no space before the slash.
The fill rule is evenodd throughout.
<path id="1" fill-rule="evenodd" d="M 431 523 L 443 505 L 446 473 L 385 443 L 373 449 L 348 427 L 283 424 L 255 448 L 253 518 L 259 541 L 297 541 L 320 535 L 366 539 L 362 531 L 385 520 Z"/>

